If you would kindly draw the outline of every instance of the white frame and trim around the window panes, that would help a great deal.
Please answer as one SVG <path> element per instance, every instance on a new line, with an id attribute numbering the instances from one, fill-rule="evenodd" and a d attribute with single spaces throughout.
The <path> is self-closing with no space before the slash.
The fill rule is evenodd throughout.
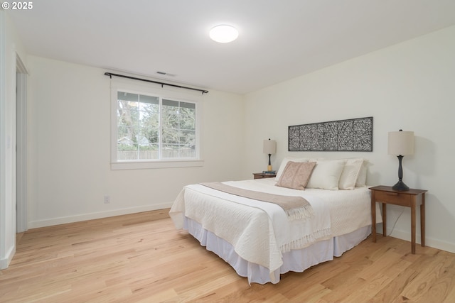
<path id="1" fill-rule="evenodd" d="M 196 104 L 196 158 L 175 158 L 175 159 L 150 159 L 150 160 L 118 160 L 117 159 L 117 92 L 129 92 L 133 94 L 145 94 L 161 99 L 191 102 Z M 202 95 L 202 94 L 200 94 Z M 145 87 L 133 82 L 111 80 L 111 170 L 138 170 L 153 168 L 171 167 L 200 167 L 204 161 L 201 158 L 200 148 L 200 106 L 202 97 L 195 92 L 186 92 L 184 89 L 164 89 L 156 87 Z M 161 119 L 161 113 L 160 113 Z M 161 150 L 161 146 L 160 146 Z M 160 153 L 161 154 L 161 153 Z M 161 156 L 161 155 L 160 155 Z"/>

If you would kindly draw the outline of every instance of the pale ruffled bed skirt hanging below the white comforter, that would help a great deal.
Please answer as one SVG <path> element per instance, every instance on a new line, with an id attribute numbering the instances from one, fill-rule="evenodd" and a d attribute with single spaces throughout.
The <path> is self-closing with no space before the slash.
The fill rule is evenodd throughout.
<path id="1" fill-rule="evenodd" d="M 276 284 L 279 282 L 280 274 L 289 271 L 303 272 L 313 265 L 333 260 L 333 257 L 339 257 L 347 250 L 357 246 L 371 233 L 371 226 L 369 225 L 343 236 L 336 236 L 313 243 L 311 246 L 300 250 L 283 253 L 283 265 L 279 270 L 274 271 L 272 278 L 268 268 L 240 258 L 230 243 L 219 238 L 215 233 L 202 228 L 197 221 L 185 217 L 184 228 L 188 229 L 188 233 L 196 238 L 201 246 L 205 246 L 207 250 L 212 251 L 229 263 L 237 275 L 247 277 L 250 284 L 265 284 L 267 282 Z"/>

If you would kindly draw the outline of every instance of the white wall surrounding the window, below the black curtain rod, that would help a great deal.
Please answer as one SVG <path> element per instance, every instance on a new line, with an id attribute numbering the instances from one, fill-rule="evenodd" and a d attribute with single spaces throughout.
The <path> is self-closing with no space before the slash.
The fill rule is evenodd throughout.
<path id="1" fill-rule="evenodd" d="M 29 228 L 164 209 L 186 184 L 240 178 L 241 96 L 204 94 L 203 167 L 110 170 L 106 70 L 35 56 L 28 70 Z"/>

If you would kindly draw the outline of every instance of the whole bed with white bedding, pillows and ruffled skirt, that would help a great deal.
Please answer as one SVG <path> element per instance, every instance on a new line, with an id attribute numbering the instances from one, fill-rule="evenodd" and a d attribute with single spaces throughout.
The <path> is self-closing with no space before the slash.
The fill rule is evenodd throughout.
<path id="1" fill-rule="evenodd" d="M 278 283 L 281 274 L 333 260 L 368 237 L 365 162 L 285 158 L 276 178 L 187 185 L 169 215 L 249 283 Z M 273 202 L 284 197 L 303 206 Z"/>

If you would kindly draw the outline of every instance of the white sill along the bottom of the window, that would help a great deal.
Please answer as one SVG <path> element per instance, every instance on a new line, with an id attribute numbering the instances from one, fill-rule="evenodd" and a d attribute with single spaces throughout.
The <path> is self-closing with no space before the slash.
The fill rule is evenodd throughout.
<path id="1" fill-rule="evenodd" d="M 203 160 L 112 162 L 111 170 L 148 170 L 154 168 L 201 167 Z"/>

